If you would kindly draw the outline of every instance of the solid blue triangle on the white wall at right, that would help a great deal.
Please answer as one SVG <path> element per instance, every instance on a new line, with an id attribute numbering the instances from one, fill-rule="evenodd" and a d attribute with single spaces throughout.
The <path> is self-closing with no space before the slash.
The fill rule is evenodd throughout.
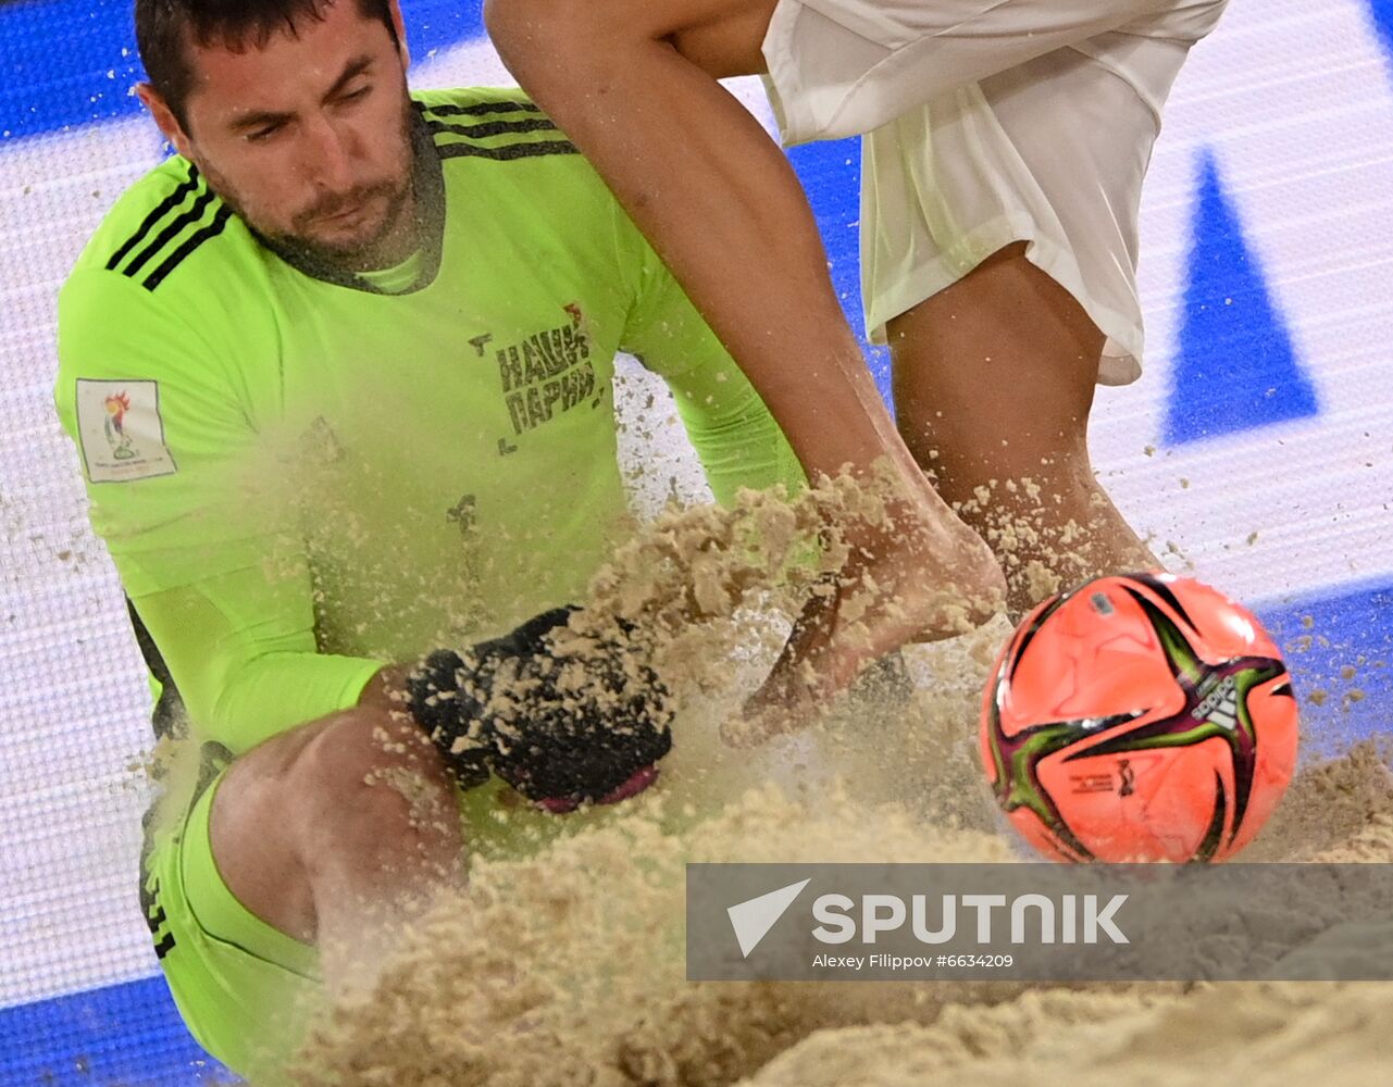
<path id="1" fill-rule="evenodd" d="M 1199 164 L 1185 270 L 1166 441 L 1198 441 L 1316 415 L 1315 388 L 1291 349 L 1211 152 Z"/>

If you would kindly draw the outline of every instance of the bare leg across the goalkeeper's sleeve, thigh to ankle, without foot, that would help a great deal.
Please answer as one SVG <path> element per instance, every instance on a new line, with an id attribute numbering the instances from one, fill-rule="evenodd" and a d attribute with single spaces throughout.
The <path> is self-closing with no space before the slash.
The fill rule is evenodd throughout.
<path id="1" fill-rule="evenodd" d="M 900 450 L 908 469 L 797 175 L 749 113 L 669 40 L 683 31 L 684 46 L 716 74 L 759 71 L 772 8 L 773 0 L 581 10 L 496 0 L 486 15 L 508 68 L 657 239 L 804 465 L 836 475 Z M 545 22 L 529 21 L 536 14 Z M 729 26 L 736 19 L 747 40 Z M 687 29 L 692 21 L 720 31 Z"/>

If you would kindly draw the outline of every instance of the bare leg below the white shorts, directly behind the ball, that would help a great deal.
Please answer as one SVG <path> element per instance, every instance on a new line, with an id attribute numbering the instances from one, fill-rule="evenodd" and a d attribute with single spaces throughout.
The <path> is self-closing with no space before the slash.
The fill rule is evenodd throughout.
<path id="1" fill-rule="evenodd" d="M 1024 253 L 1000 251 L 889 324 L 900 433 L 990 543 L 1015 614 L 1059 583 L 1160 565 L 1088 459 L 1103 334 Z"/>

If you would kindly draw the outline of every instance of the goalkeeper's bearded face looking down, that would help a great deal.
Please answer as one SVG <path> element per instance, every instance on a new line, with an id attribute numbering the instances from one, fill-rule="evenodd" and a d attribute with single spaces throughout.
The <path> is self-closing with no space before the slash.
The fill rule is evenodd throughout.
<path id="1" fill-rule="evenodd" d="M 248 225 L 348 271 L 410 255 L 411 103 L 382 21 L 332 0 L 255 46 L 189 50 L 195 85 L 167 134 Z"/>

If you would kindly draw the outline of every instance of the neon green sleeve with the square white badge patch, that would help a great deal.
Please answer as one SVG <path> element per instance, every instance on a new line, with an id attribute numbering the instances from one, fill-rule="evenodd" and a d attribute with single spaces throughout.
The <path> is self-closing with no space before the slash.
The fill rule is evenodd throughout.
<path id="1" fill-rule="evenodd" d="M 99 269 L 59 299 L 54 399 L 92 525 L 199 736 L 234 753 L 351 706 L 382 667 L 316 651 L 308 564 L 234 365 L 249 342 Z"/>

